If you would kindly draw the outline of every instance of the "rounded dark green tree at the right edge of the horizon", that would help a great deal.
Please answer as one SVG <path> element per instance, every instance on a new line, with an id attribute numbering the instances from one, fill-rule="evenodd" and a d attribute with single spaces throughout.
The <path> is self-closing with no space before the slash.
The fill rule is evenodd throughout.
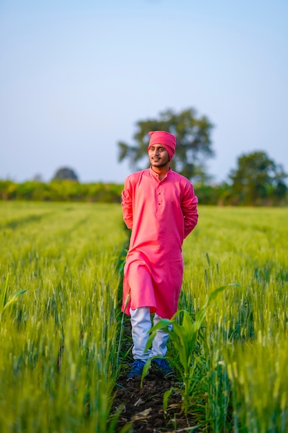
<path id="1" fill-rule="evenodd" d="M 231 170 L 233 194 L 238 203 L 246 205 L 279 203 L 285 199 L 287 185 L 282 165 L 269 159 L 264 151 L 243 154 L 238 158 L 238 168 Z"/>

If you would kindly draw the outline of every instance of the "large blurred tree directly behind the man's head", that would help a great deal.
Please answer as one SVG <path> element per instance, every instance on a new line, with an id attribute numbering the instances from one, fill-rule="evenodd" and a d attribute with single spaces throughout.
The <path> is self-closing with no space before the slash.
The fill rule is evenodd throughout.
<path id="1" fill-rule="evenodd" d="M 128 145 L 118 142 L 119 161 L 128 159 L 133 169 L 141 169 L 137 166 L 140 162 L 142 168 L 147 167 L 149 131 L 167 131 L 177 138 L 175 156 L 171 161 L 172 169 L 195 180 L 207 180 L 205 162 L 207 158 L 214 156 L 211 149 L 211 129 L 213 125 L 206 116 L 197 117 L 195 109 L 186 109 L 175 113 L 168 109 L 160 113 L 160 119 L 140 120 L 136 123 L 136 132 L 133 136 L 135 144 Z"/>

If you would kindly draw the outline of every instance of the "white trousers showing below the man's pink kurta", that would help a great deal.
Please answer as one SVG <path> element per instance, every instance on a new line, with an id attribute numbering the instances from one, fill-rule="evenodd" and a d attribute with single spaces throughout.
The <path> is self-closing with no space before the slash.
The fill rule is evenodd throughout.
<path id="1" fill-rule="evenodd" d="M 150 308 L 148 306 L 142 306 L 132 310 L 131 314 L 131 326 L 132 326 L 132 340 L 133 340 L 133 358 L 135 360 L 142 360 L 146 362 L 148 358 L 152 356 L 165 356 L 167 352 L 166 344 L 169 340 L 169 333 L 158 329 L 155 338 L 152 343 L 152 349 L 148 349 L 146 352 L 145 347 L 149 338 L 149 331 L 151 330 L 151 316 Z M 157 324 L 162 317 L 155 313 L 153 317 L 153 326 Z M 168 326 L 169 331 L 172 329 L 172 324 Z"/>

